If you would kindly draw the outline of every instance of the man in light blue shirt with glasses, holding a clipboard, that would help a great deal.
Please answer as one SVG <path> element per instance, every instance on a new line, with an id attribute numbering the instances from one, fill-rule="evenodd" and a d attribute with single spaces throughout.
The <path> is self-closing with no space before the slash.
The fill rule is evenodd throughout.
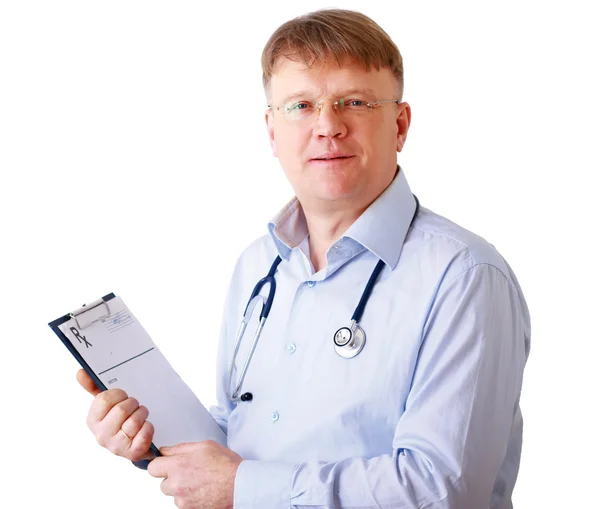
<path id="1" fill-rule="evenodd" d="M 228 448 L 167 447 L 149 473 L 180 508 L 512 507 L 527 306 L 493 246 L 410 192 L 397 47 L 366 16 L 324 10 L 282 25 L 262 65 L 269 140 L 296 198 L 231 281 L 212 409 Z M 269 318 L 230 381 L 239 319 L 277 256 Z M 96 394 L 98 441 L 147 458 L 148 411 L 78 378 Z M 245 397 L 230 398 L 240 378 Z"/>

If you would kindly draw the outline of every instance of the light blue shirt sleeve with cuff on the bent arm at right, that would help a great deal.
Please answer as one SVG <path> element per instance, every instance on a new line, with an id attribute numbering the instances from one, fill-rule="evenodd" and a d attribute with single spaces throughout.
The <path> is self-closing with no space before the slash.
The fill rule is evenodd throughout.
<path id="1" fill-rule="evenodd" d="M 234 507 L 489 507 L 520 425 L 529 338 L 516 280 L 488 264 L 443 280 L 390 453 L 297 465 L 243 461 Z"/>

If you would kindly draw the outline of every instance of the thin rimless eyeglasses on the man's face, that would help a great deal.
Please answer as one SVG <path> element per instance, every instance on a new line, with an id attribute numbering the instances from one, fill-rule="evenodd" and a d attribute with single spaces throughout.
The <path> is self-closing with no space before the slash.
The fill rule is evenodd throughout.
<path id="1" fill-rule="evenodd" d="M 331 101 L 333 110 L 338 115 L 362 117 L 371 114 L 377 106 L 383 103 L 400 104 L 400 99 L 382 99 L 379 101 L 368 102 L 362 99 L 341 98 L 341 99 L 321 99 L 313 103 L 311 101 L 297 101 L 283 106 L 271 106 L 270 110 L 281 111 L 284 117 L 294 122 L 314 120 L 317 118 L 323 109 L 323 103 Z"/>

